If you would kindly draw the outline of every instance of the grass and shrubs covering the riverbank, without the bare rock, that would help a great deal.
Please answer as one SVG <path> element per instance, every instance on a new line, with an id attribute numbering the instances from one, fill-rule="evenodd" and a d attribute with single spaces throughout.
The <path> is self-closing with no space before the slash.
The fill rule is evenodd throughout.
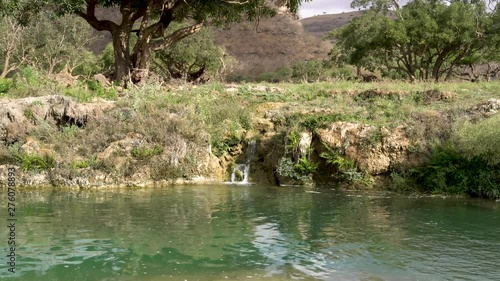
<path id="1" fill-rule="evenodd" d="M 413 152 L 428 161 L 420 167 L 395 168 L 391 189 L 499 197 L 500 134 L 492 128 L 499 127 L 500 117 L 465 121 L 470 120 L 465 118 L 467 109 L 500 98 L 499 82 L 209 83 L 179 87 L 151 83 L 117 90 L 93 81 L 63 86 L 43 75 L 37 76 L 36 71 L 26 70 L 0 82 L 8 85 L 0 94 L 0 101 L 56 93 L 84 102 L 95 98 L 115 101 L 115 108 L 102 118 L 89 120 L 84 127 L 38 126 L 30 137 L 43 143 L 52 154 L 22 153 L 19 150 L 22 140 L 2 145 L 0 162 L 18 164 L 26 171 L 51 170 L 75 177 L 90 169 L 127 177 L 150 165 L 151 178 L 155 180 L 189 177 L 199 161 L 198 148 L 210 144 L 212 153 L 218 157 L 241 153 L 238 151 L 246 138 L 257 131 L 253 119 L 272 112 L 274 130 L 282 136 L 278 140 L 288 147 L 278 172 L 289 173 L 288 176 L 302 183 L 314 181 L 314 176 L 323 172 L 319 168 L 321 163 L 330 165 L 332 177 L 347 186 L 372 182 L 352 160 L 335 151 L 321 153 L 320 159 L 311 157 L 313 151 L 305 157 L 299 156 L 295 152 L 297 132 L 314 133 L 336 121 L 368 124 L 380 128 L 380 132 L 406 124 L 414 141 Z M 442 98 L 436 97 L 436 92 L 453 94 Z M 30 113 L 25 112 L 26 115 Z M 145 136 L 145 142 L 128 152 L 126 163 L 116 165 L 98 159 L 98 154 L 110 144 L 130 133 Z M 367 141 L 375 143 L 382 137 L 373 133 Z M 165 147 L 180 151 L 181 147 L 176 145 L 183 145 L 181 139 L 187 141 L 187 155 L 180 157 L 163 151 Z M 433 143 L 430 149 L 424 141 Z M 167 160 L 165 153 L 170 153 Z M 178 162 L 173 164 L 176 157 Z"/>

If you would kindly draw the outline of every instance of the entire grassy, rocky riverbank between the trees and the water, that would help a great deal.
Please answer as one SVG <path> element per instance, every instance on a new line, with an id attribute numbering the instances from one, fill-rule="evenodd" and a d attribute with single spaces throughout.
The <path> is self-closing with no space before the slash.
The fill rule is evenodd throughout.
<path id="1" fill-rule="evenodd" d="M 24 83 L 0 103 L 23 185 L 224 182 L 255 141 L 255 183 L 499 197 L 499 82 Z"/>

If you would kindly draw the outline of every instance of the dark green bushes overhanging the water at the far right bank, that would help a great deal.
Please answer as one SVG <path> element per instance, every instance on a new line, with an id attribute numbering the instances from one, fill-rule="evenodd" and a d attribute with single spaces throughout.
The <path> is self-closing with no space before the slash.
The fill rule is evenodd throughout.
<path id="1" fill-rule="evenodd" d="M 436 142 L 420 167 L 394 172 L 399 192 L 468 194 L 500 198 L 500 115 L 457 126 L 451 138 Z"/>

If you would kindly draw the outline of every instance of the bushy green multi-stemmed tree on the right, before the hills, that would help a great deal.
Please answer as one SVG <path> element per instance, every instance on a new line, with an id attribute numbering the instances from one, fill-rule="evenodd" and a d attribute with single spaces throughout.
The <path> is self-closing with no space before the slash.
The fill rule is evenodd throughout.
<path id="1" fill-rule="evenodd" d="M 373 8 L 331 35 L 349 63 L 438 81 L 488 45 L 491 15 L 480 1 L 414 0 L 397 17 Z M 377 59 L 375 67 L 369 57 Z"/>

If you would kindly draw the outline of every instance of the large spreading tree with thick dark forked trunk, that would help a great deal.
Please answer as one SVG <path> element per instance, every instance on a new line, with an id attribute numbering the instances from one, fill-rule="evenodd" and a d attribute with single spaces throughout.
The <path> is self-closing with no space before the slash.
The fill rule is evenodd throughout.
<path id="1" fill-rule="evenodd" d="M 268 2 L 283 2 L 296 12 L 302 1 L 308 0 L 5 0 L 0 9 L 15 14 L 21 22 L 37 11 L 52 9 L 58 15 L 78 15 L 94 29 L 109 31 L 115 55 L 114 78 L 130 77 L 137 82 L 147 74 L 153 52 L 198 32 L 204 25 L 227 25 L 272 16 L 275 11 Z M 97 7 L 118 7 L 121 21 L 98 19 Z M 171 30 L 172 22 L 189 25 Z M 132 33 L 137 35 L 133 46 Z"/>

